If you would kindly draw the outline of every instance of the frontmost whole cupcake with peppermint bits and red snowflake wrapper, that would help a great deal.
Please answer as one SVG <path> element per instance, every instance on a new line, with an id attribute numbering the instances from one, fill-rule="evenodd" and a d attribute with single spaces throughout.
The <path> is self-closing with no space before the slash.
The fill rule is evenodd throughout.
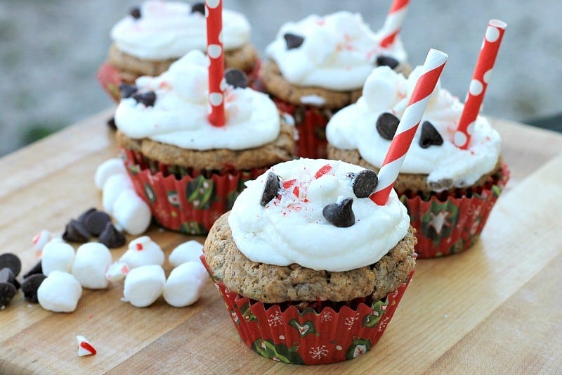
<path id="1" fill-rule="evenodd" d="M 372 170 L 335 160 L 274 165 L 238 196 L 202 261 L 242 341 L 273 360 L 325 364 L 377 343 L 412 276 L 414 229 Z"/>

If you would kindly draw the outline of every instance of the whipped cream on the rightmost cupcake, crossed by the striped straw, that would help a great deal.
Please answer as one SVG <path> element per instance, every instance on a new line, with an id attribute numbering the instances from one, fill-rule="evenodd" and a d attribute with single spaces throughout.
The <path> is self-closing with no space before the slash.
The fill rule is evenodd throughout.
<path id="1" fill-rule="evenodd" d="M 329 144 L 344 150 L 358 150 L 362 158 L 380 167 L 391 141 L 377 132 L 377 118 L 385 112 L 398 118 L 403 115 L 420 72 L 418 67 L 405 79 L 388 67 L 375 68 L 357 103 L 339 110 L 328 122 L 326 137 Z M 443 185 L 470 186 L 495 167 L 501 140 L 485 117 L 476 119 L 468 149 L 462 150 L 453 143 L 463 108 L 459 99 L 438 83 L 420 124 L 431 122 L 443 138 L 443 145 L 419 146 L 420 125 L 400 172 L 428 174 L 429 186 L 440 191 L 447 189 L 441 187 Z"/>

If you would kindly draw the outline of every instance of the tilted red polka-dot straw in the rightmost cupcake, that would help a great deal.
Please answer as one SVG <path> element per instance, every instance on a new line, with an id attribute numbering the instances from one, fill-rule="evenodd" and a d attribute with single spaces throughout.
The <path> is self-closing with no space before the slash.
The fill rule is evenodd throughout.
<path id="1" fill-rule="evenodd" d="M 466 94 L 464 109 L 459 119 L 459 125 L 457 125 L 457 132 L 455 132 L 455 137 L 453 138 L 455 146 L 464 150 L 469 147 L 476 117 L 480 112 L 486 87 L 488 87 L 488 82 L 490 82 L 492 69 L 494 68 L 499 45 L 502 44 L 506 27 L 507 24 L 500 20 L 490 20 L 488 23 L 488 29 L 484 35 L 480 55 L 478 56 L 478 61 L 476 61 L 476 67 L 469 85 L 469 93 Z"/>

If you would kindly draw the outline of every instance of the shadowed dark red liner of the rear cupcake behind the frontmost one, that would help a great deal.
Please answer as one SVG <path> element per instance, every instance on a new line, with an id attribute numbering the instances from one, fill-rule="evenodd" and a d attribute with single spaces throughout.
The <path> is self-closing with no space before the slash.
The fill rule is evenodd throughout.
<path id="1" fill-rule="evenodd" d="M 296 155 L 302 158 L 327 158 L 326 125 L 335 111 L 313 106 L 296 106 L 279 98 L 273 98 L 279 110 L 294 117 L 299 133 L 296 140 Z"/>

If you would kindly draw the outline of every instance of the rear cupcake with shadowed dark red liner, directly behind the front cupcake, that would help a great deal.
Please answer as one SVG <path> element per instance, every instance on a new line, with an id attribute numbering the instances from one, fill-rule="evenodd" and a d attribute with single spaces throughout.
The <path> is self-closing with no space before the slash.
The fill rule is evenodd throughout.
<path id="1" fill-rule="evenodd" d="M 410 72 L 400 37 L 386 48 L 379 46 L 382 38 L 359 13 L 347 11 L 282 25 L 266 49 L 259 80 L 277 106 L 295 118 L 297 155 L 326 157 L 326 123 L 357 101 L 374 66 Z"/>

